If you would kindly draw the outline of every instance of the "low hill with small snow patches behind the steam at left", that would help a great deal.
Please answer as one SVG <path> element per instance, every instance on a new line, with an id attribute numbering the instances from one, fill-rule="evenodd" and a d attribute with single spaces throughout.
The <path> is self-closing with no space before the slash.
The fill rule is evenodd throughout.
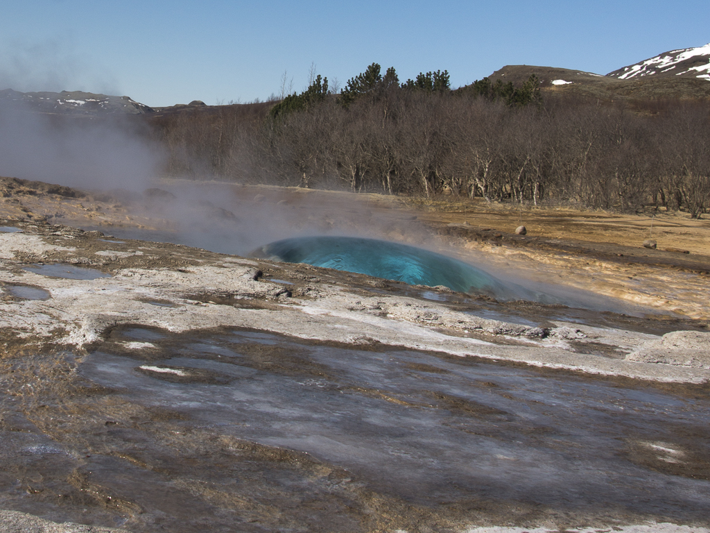
<path id="1" fill-rule="evenodd" d="M 153 112 L 146 104 L 127 96 L 97 95 L 82 91 L 18 92 L 6 89 L 0 91 L 0 104 L 14 104 L 40 113 L 89 117 Z"/>

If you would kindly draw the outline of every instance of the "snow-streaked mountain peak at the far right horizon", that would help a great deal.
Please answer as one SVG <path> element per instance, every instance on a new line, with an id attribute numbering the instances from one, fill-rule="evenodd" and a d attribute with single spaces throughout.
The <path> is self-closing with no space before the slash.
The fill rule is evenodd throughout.
<path id="1" fill-rule="evenodd" d="M 642 76 L 699 77 L 710 81 L 710 43 L 697 48 L 683 48 L 657 55 L 635 65 L 609 72 L 607 76 L 630 80 Z"/>

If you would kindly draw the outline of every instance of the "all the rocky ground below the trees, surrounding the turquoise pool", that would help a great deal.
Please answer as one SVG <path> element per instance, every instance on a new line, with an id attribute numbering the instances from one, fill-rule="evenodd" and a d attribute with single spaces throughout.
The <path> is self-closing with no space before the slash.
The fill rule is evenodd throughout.
<path id="1" fill-rule="evenodd" d="M 436 205 L 322 191 L 207 187 L 209 194 L 174 182 L 142 194 L 82 193 L 2 178 L 0 380 L 6 393 L 1 400 L 0 431 L 6 446 L 0 463 L 6 473 L 0 476 L 1 508 L 54 522 L 129 531 L 211 527 L 214 531 L 483 532 L 498 526 L 510 532 L 522 531 L 519 527 L 596 531 L 584 528 L 612 526 L 628 531 L 707 530 L 709 524 L 702 517 L 709 514 L 706 504 L 699 503 L 709 490 L 710 478 L 708 438 L 702 429 L 710 406 L 707 221 L 665 213 L 653 218 L 622 217 L 453 202 Z M 525 236 L 513 231 L 521 222 L 528 230 Z M 236 252 L 299 232 L 396 239 L 461 259 L 475 257 L 503 277 L 504 270 L 512 272 L 508 276 L 517 281 L 562 286 L 573 295 L 584 289 L 601 298 L 598 306 L 629 306 L 634 313 L 498 303 L 359 274 L 131 238 L 141 232 L 170 238 L 186 225 L 192 230 L 185 232 L 187 240 Z M 209 230 L 201 233 L 201 225 Z M 219 242 L 204 240 L 214 233 L 225 237 Z M 226 235 L 236 236 L 229 240 Z M 641 247 L 649 237 L 657 241 L 657 249 Z M 60 265 L 59 270 L 40 268 L 51 264 Z M 262 335 L 259 332 L 275 336 L 249 336 Z M 237 350 L 234 335 L 252 340 L 246 345 L 240 340 Z M 215 339 L 222 339 L 222 344 Z M 175 359 L 187 345 L 202 348 Z M 246 357 L 236 365 L 239 372 L 247 369 L 246 375 L 234 374 L 234 365 L 226 368 L 224 361 L 215 358 L 234 350 Z M 323 358 L 328 350 L 344 354 L 341 357 L 373 359 L 362 363 L 359 375 L 351 376 L 345 369 L 338 370 L 334 360 Z M 387 382 L 377 381 L 379 370 L 367 377 L 384 364 L 385 355 L 395 352 L 409 361 L 406 370 L 393 371 Z M 494 365 L 487 366 L 488 362 Z M 456 370 L 460 364 L 468 365 L 465 372 L 484 368 L 493 375 L 502 372 L 500 379 L 480 378 L 477 383 L 485 383 L 485 391 L 497 390 L 499 405 L 513 397 L 519 397 L 518 403 L 493 408 L 486 404 L 490 400 L 480 396 L 485 392 L 480 384 L 478 392 L 464 392 L 464 384 L 450 384 L 454 388 L 448 392 L 432 392 L 432 387 L 443 390 L 446 376 L 464 372 Z M 114 374 L 107 377 L 107 368 Z M 413 381 L 400 382 L 400 372 Z M 365 447 L 359 448 L 355 441 L 348 441 L 348 446 L 354 446 L 348 448 L 351 452 L 342 453 L 322 443 L 308 443 L 305 436 L 289 441 L 293 435 L 289 437 L 288 431 L 267 435 L 271 426 L 265 413 L 280 416 L 283 404 L 258 408 L 253 404 L 258 416 L 249 419 L 251 415 L 244 414 L 245 419 L 223 427 L 207 423 L 216 415 L 197 397 L 188 405 L 186 400 L 175 403 L 168 394 L 178 394 L 180 387 L 187 387 L 181 389 L 185 394 L 191 391 L 197 396 L 204 394 L 200 387 L 217 387 L 210 389 L 217 394 L 236 382 L 244 387 L 269 383 L 277 394 L 297 383 L 315 387 L 313 394 L 325 394 L 326 403 L 345 394 L 352 402 L 370 406 L 368 412 L 385 409 L 382 416 L 392 417 L 393 427 L 403 435 L 412 422 L 395 420 L 419 413 L 417 418 L 443 417 L 437 420 L 451 427 L 454 419 L 461 426 L 485 426 L 474 431 L 480 436 L 476 438 L 485 434 L 501 446 L 526 443 L 515 453 L 540 446 L 547 450 L 552 441 L 567 442 L 565 450 L 579 446 L 562 429 L 550 429 L 551 423 L 543 428 L 524 414 L 537 412 L 542 408 L 536 406 L 549 400 L 523 399 L 520 395 L 527 385 L 503 381 L 513 379 L 511 375 L 532 379 L 525 372 L 535 372 L 540 382 L 559 382 L 560 387 L 574 383 L 571 390 L 596 387 L 612 395 L 624 391 L 628 399 L 619 399 L 622 403 L 647 395 L 656 398 L 653 402 L 662 397 L 669 406 L 691 409 L 692 415 L 674 414 L 679 419 L 654 424 L 628 419 L 633 424 L 621 424 L 621 433 L 603 444 L 611 446 L 613 457 L 630 461 L 620 463 L 622 470 L 632 468 L 629 465 L 642 469 L 629 470 L 614 486 L 631 483 L 623 490 L 640 490 L 629 481 L 634 475 L 649 475 L 646 483 L 657 484 L 659 492 L 648 505 L 613 505 L 604 500 L 604 493 L 613 491 L 592 488 L 594 483 L 603 485 L 591 474 L 598 466 L 584 470 L 594 480 L 587 488 L 591 492 L 569 501 L 542 497 L 545 490 L 535 488 L 533 470 L 523 466 L 515 467 L 527 472 L 521 473 L 520 490 L 531 485 L 530 492 L 525 489 L 522 494 L 503 491 L 491 496 L 495 490 L 469 486 L 469 478 L 457 478 L 454 463 L 449 465 L 453 476 L 449 485 L 435 488 L 432 480 L 428 492 L 405 490 L 404 474 L 401 486 L 393 487 L 368 470 L 376 460 L 359 459 L 355 450 L 364 453 Z M 133 394 L 130 382 L 119 385 L 126 376 L 135 379 Z M 147 380 L 146 390 L 158 387 L 156 393 L 160 389 L 160 394 L 168 395 L 160 402 L 150 395 L 141 397 L 141 379 Z M 271 390 L 268 387 L 264 390 Z M 306 402 L 308 396 L 303 398 Z M 589 402 L 594 401 L 590 397 Z M 301 405 L 296 399 L 293 402 L 293 409 Z M 629 404 L 623 416 L 666 409 L 650 399 L 643 402 Z M 241 405 L 234 409 L 242 409 Z M 616 425 L 594 421 L 593 412 L 609 409 L 604 405 L 584 415 L 598 429 L 590 434 L 591 441 Z M 556 408 L 555 404 L 545 407 Z M 569 412 L 574 409 L 570 404 Z M 440 427 L 439 422 L 432 428 Z M 251 434 L 257 430 L 247 427 L 267 433 Z M 338 434 L 341 443 L 344 435 L 352 439 L 361 431 L 333 427 L 329 438 Z M 548 436 L 542 441 L 526 440 L 543 429 Z M 440 438 L 459 443 L 459 437 L 452 435 Z M 362 434 L 361 438 L 369 437 Z M 377 436 L 371 438 L 379 442 Z M 391 461 L 410 466 L 439 461 L 432 471 L 449 468 L 437 455 L 442 452 L 432 451 L 431 443 L 407 448 L 402 438 L 388 437 L 392 439 L 388 446 L 397 443 L 406 448 Z M 466 446 L 461 453 L 467 453 Z M 597 449 L 591 446 L 582 456 Z M 447 456 L 457 453 L 459 448 Z M 508 457 L 503 452 L 498 456 Z M 556 461 L 566 459 L 559 456 Z M 500 468 L 501 476 L 508 472 L 507 466 Z M 430 474 L 421 475 L 428 479 Z M 555 476 L 564 478 L 563 473 Z M 146 492 L 145 486 L 156 490 Z M 581 505 L 582 500 L 599 503 Z M 645 497 L 632 500 L 643 502 Z M 0 518 L 8 531 L 19 530 L 11 529 L 13 520 L 32 520 L 13 512 Z M 234 529 L 236 523 L 239 527 Z M 37 520 L 31 527 L 55 530 Z M 71 527 L 82 526 L 65 530 L 84 530 Z"/>

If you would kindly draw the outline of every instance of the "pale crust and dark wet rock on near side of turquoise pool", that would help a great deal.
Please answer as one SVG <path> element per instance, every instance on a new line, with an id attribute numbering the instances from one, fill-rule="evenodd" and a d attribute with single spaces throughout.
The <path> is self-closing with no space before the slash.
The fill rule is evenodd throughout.
<path id="1" fill-rule="evenodd" d="M 705 350 L 702 319 L 0 225 L 20 230 L 0 508 L 156 532 L 709 526 L 710 369 L 677 351 Z M 49 264 L 104 276 L 27 269 Z"/>

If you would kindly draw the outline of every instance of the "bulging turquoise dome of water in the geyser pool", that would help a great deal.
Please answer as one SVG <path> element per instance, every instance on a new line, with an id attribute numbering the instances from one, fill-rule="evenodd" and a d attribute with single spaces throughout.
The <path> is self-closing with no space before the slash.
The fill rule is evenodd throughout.
<path id="1" fill-rule="evenodd" d="M 453 291 L 508 300 L 539 299 L 522 287 L 502 281 L 475 266 L 429 250 L 361 237 L 297 237 L 258 249 L 254 255 L 288 263 L 367 274 L 410 285 L 446 286 Z"/>

